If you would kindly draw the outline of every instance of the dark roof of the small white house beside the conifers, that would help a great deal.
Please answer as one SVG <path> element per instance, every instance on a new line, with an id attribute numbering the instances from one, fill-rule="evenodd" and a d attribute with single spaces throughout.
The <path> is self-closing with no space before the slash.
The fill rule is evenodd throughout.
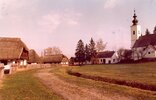
<path id="1" fill-rule="evenodd" d="M 114 53 L 114 51 L 98 52 L 97 58 L 111 58 Z"/>

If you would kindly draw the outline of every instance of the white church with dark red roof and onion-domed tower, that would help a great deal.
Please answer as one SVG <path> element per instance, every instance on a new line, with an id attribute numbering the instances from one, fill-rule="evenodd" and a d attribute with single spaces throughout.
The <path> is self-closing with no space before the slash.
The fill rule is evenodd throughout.
<path id="1" fill-rule="evenodd" d="M 133 60 L 156 59 L 156 27 L 153 33 L 147 29 L 142 35 L 135 11 L 131 26 L 131 50 Z"/>

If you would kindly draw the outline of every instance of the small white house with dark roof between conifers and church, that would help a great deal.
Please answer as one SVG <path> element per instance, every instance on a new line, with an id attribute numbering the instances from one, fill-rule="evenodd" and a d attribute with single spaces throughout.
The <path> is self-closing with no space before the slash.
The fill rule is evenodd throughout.
<path id="1" fill-rule="evenodd" d="M 98 64 L 118 63 L 118 56 L 115 51 L 104 51 L 97 53 Z"/>

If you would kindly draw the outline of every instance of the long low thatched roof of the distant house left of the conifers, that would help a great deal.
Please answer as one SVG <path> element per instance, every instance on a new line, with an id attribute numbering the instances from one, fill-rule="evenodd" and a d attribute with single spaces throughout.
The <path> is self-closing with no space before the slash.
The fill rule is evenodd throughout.
<path id="1" fill-rule="evenodd" d="M 44 63 L 61 63 L 64 58 L 63 54 L 49 55 L 43 57 Z"/>

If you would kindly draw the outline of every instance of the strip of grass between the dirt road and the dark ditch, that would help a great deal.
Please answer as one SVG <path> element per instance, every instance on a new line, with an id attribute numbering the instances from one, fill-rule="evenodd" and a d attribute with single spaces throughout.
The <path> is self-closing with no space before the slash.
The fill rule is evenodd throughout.
<path id="1" fill-rule="evenodd" d="M 94 66 L 94 67 L 96 69 L 97 66 Z M 122 86 L 122 85 L 110 84 L 107 82 L 84 79 L 81 77 L 75 77 L 75 76 L 67 74 L 68 70 L 75 69 L 75 68 L 77 69 L 79 67 L 60 67 L 60 68 L 53 69 L 51 72 L 66 82 L 76 84 L 78 86 L 89 88 L 89 89 L 95 89 L 109 96 L 112 96 L 113 94 L 117 94 L 121 96 L 134 97 L 137 100 L 155 100 L 156 99 L 156 92 L 141 90 L 137 88 L 131 88 L 131 87 Z M 87 69 L 89 69 L 89 67 Z M 98 68 L 98 70 L 100 69 Z M 97 70 L 95 70 L 95 72 L 96 71 Z M 85 72 L 85 70 L 83 70 L 83 72 Z M 89 73 L 89 71 L 87 70 L 86 72 Z"/>

